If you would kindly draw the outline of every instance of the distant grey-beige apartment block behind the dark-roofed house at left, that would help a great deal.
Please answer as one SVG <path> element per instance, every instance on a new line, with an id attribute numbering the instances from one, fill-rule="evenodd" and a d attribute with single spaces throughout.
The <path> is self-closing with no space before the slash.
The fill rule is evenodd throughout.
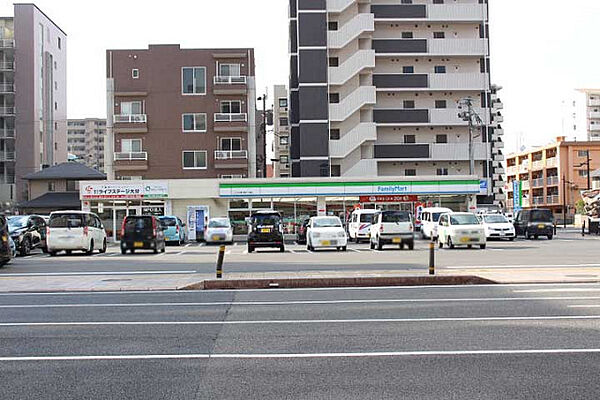
<path id="1" fill-rule="evenodd" d="M 69 157 L 104 171 L 104 138 L 106 120 L 99 118 L 70 119 L 67 122 L 67 151 Z"/>

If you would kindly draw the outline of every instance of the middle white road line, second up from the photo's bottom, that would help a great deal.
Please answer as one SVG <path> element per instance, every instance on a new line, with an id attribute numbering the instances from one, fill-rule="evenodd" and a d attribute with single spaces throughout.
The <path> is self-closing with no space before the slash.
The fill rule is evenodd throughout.
<path id="1" fill-rule="evenodd" d="M 88 327 L 88 326 L 172 326 L 172 325 L 317 325 L 317 324 L 390 324 L 430 322 L 499 322 L 499 321 L 577 321 L 600 320 L 600 315 L 554 315 L 538 317 L 459 317 L 459 318 L 372 318 L 372 319 L 300 319 L 248 321 L 74 321 L 74 322 L 2 322 L 0 328 L 12 327 Z"/>

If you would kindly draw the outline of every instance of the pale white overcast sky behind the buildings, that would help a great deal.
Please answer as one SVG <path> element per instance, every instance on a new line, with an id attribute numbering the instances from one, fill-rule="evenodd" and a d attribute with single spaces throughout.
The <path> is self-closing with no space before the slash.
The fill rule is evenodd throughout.
<path id="1" fill-rule="evenodd" d="M 287 3 L 36 1 L 68 35 L 69 118 L 106 116 L 106 49 L 253 47 L 258 91 L 286 84 Z M 13 15 L 11 1 L 0 0 L 0 15 Z M 600 88 L 599 19 L 598 0 L 490 0 L 492 81 L 503 88 L 507 151 L 518 137 L 533 146 L 561 135 L 563 102 L 576 88 Z"/>

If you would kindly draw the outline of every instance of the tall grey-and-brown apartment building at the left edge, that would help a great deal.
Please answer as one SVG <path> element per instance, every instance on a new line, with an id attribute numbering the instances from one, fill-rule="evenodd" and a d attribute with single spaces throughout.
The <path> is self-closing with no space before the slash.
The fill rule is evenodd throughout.
<path id="1" fill-rule="evenodd" d="M 67 160 L 67 35 L 34 4 L 0 18 L 0 201 L 28 200 L 25 175 Z"/>

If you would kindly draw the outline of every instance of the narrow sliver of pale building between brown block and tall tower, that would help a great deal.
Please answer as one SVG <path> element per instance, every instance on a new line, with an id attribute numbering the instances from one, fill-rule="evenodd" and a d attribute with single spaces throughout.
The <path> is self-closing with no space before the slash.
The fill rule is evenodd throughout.
<path id="1" fill-rule="evenodd" d="M 288 90 L 285 85 L 273 87 L 273 176 L 290 176 L 290 123 Z"/>

